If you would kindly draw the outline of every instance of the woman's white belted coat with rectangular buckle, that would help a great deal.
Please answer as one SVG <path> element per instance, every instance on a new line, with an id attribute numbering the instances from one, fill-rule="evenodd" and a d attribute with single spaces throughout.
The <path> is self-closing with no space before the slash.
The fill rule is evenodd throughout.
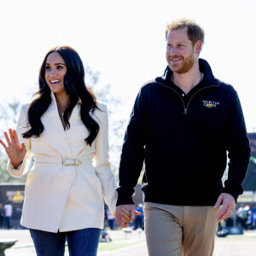
<path id="1" fill-rule="evenodd" d="M 92 114 L 100 125 L 95 141 L 85 143 L 89 131 L 80 118 L 80 105 L 73 108 L 70 129 L 64 130 L 55 96 L 41 117 L 44 131 L 38 138 L 24 139 L 27 109 L 24 105 L 17 124 L 26 156 L 17 169 L 8 163 L 8 172 L 20 177 L 28 171 L 31 153 L 34 164 L 26 178 L 25 200 L 20 224 L 26 228 L 61 232 L 85 228 L 103 228 L 104 200 L 115 212 L 117 183 L 108 160 L 108 112 L 105 104 Z M 81 161 L 80 166 L 65 166 L 63 160 Z M 65 160 L 64 160 L 65 161 Z M 65 164 L 65 162 L 64 162 Z"/>

